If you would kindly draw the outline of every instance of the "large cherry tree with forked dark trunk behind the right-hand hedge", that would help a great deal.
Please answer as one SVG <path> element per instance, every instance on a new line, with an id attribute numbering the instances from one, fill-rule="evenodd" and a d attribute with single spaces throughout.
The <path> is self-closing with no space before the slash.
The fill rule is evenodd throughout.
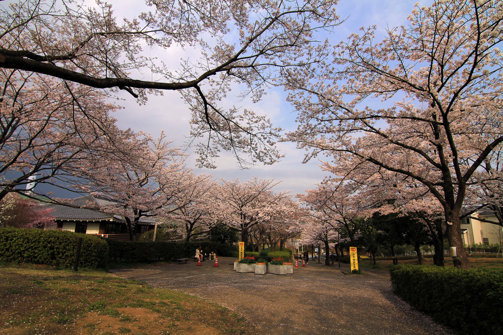
<path id="1" fill-rule="evenodd" d="M 503 10 L 436 1 L 380 43 L 375 27 L 339 43 L 324 67 L 290 70 L 299 110 L 289 139 L 334 160 L 371 162 L 424 185 L 441 204 L 457 267 L 470 268 L 460 213 L 477 169 L 503 142 Z M 393 107 L 368 103 L 395 99 Z M 351 100 L 352 99 L 352 100 Z"/>

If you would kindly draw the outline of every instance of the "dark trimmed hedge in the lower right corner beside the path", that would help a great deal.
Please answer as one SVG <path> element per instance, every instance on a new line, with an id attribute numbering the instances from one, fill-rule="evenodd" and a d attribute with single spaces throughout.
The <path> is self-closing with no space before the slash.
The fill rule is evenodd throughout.
<path id="1" fill-rule="evenodd" d="M 418 310 L 462 334 L 501 334 L 503 269 L 398 265 L 393 291 Z"/>

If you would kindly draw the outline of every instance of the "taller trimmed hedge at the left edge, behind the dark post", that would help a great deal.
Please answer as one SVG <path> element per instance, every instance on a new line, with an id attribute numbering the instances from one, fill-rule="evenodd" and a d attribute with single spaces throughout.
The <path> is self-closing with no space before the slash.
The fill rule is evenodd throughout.
<path id="1" fill-rule="evenodd" d="M 102 238 L 35 228 L 0 228 L 0 261 L 72 268 L 79 237 L 82 237 L 82 245 L 78 266 L 105 267 L 109 249 Z"/>

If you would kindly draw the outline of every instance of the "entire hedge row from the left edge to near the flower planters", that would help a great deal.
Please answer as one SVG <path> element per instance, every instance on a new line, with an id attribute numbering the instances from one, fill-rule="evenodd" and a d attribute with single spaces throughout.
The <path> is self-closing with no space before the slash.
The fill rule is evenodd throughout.
<path id="1" fill-rule="evenodd" d="M 218 256 L 237 257 L 235 246 L 210 241 L 132 242 L 65 230 L 0 228 L 0 261 L 71 268 L 75 262 L 79 237 L 82 237 L 79 267 L 86 268 L 105 268 L 113 263 L 150 263 L 190 258 L 196 255 L 199 246 L 205 254 L 214 251 Z"/>

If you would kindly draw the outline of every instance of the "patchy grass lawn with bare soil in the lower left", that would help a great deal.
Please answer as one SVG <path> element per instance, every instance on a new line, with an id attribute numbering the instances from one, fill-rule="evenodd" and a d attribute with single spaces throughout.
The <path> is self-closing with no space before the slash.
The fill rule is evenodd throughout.
<path id="1" fill-rule="evenodd" d="M 102 271 L 0 267 L 2 334 L 251 334 L 218 304 Z"/>

